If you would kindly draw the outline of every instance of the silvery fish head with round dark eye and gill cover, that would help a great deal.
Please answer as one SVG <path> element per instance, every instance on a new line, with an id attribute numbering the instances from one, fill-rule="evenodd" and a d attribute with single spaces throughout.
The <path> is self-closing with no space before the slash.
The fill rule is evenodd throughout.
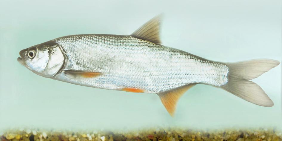
<path id="1" fill-rule="evenodd" d="M 34 73 L 52 77 L 64 65 L 64 53 L 53 40 L 20 51 L 18 62 Z"/>

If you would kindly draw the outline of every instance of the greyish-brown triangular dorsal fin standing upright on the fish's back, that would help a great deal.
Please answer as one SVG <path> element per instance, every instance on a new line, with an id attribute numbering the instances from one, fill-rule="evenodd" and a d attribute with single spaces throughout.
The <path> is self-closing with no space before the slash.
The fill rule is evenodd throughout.
<path id="1" fill-rule="evenodd" d="M 147 40 L 156 44 L 161 44 L 160 39 L 160 23 L 161 23 L 161 15 L 155 16 L 150 21 L 143 24 L 137 30 L 135 30 L 131 36 L 136 37 L 138 39 Z"/>

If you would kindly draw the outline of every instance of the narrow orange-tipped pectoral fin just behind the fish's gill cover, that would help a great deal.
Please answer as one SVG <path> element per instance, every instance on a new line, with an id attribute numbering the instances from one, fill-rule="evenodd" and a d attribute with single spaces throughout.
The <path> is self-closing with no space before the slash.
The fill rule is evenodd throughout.
<path id="1" fill-rule="evenodd" d="M 66 75 L 71 75 L 74 77 L 83 77 L 83 78 L 93 78 L 101 75 L 100 72 L 89 72 L 89 71 L 79 71 L 79 70 L 65 70 Z"/>

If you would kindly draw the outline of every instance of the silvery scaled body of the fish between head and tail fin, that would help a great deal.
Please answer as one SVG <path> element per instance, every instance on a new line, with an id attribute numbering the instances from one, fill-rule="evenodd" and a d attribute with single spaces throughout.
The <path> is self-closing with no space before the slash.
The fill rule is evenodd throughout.
<path id="1" fill-rule="evenodd" d="M 182 50 L 132 36 L 75 35 L 55 39 L 66 55 L 63 70 L 99 72 L 73 78 L 64 71 L 54 79 L 104 89 L 138 88 L 159 93 L 188 84 L 225 85 L 228 67 Z"/>

